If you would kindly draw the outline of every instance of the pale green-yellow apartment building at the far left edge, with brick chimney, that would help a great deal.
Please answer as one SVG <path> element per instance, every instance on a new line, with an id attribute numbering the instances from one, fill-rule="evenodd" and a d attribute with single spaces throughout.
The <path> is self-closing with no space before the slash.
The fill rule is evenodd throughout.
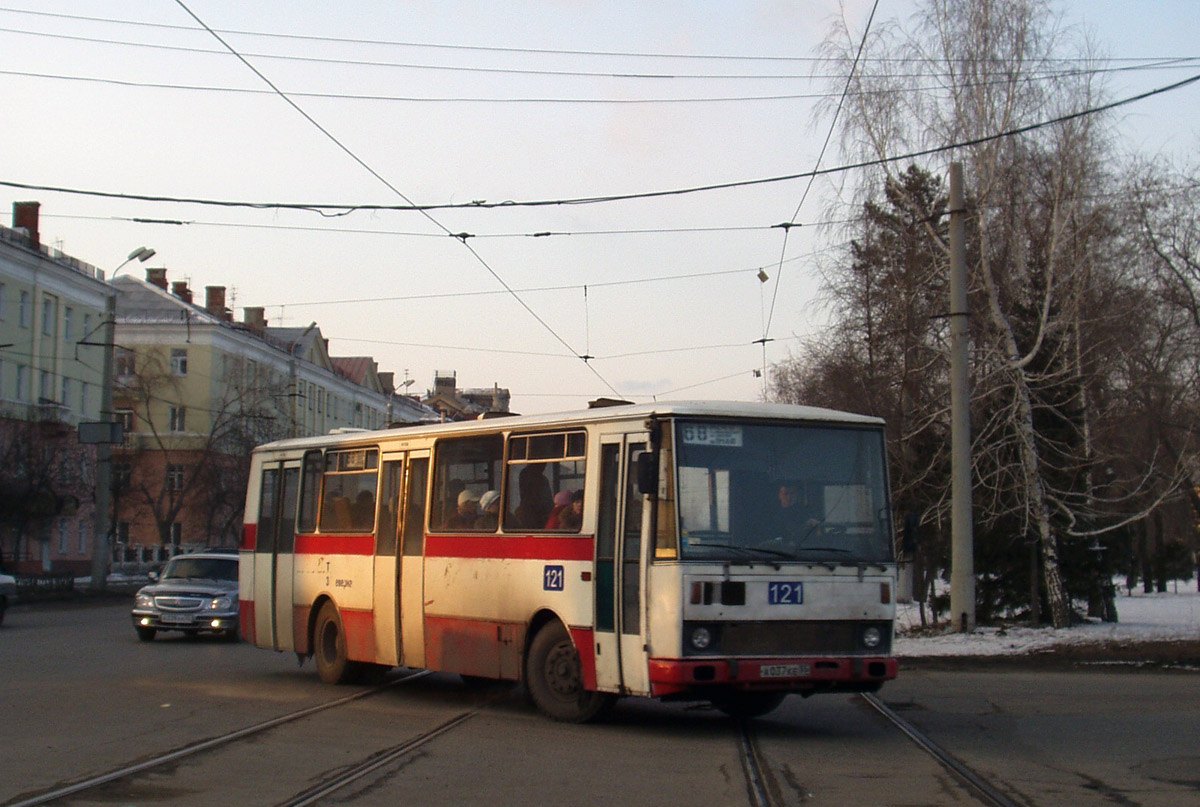
<path id="1" fill-rule="evenodd" d="M 0 566 L 86 574 L 95 532 L 96 449 L 80 423 L 102 419 L 103 273 L 41 243 L 38 204 L 0 227 Z"/>

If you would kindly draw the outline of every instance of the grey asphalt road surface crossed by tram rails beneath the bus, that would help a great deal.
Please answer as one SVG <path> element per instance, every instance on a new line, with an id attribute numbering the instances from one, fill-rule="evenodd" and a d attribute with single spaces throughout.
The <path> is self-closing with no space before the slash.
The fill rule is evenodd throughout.
<path id="1" fill-rule="evenodd" d="M 0 628 L 0 805 L 366 687 L 217 639 L 138 641 L 124 600 L 18 606 Z M 563 725 L 514 687 L 396 671 L 349 704 L 56 803 L 281 805 L 445 727 L 319 803 L 748 805 L 739 727 L 629 699 Z M 881 699 L 1020 805 L 1200 800 L 1200 674 L 1090 663 L 905 665 Z M 770 803 L 979 803 L 851 695 L 790 698 L 754 722 Z"/>

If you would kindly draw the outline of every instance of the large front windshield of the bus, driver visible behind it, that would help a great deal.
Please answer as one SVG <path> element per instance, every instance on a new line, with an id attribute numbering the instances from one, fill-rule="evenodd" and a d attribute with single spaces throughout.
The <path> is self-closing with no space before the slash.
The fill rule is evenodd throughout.
<path id="1" fill-rule="evenodd" d="M 676 458 L 683 560 L 893 557 L 877 429 L 682 420 Z"/>

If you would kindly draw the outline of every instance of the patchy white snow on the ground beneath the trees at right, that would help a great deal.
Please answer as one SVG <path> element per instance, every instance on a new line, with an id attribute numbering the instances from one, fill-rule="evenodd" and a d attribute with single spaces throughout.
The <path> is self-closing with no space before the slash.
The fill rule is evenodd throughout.
<path id="1" fill-rule="evenodd" d="M 1120 622 L 1090 621 L 1072 628 L 988 628 L 973 634 L 905 635 L 920 627 L 914 604 L 901 604 L 896 614 L 895 653 L 914 656 L 1004 656 L 1030 653 L 1064 645 L 1148 641 L 1200 640 L 1200 594 L 1196 581 L 1176 581 L 1162 594 L 1130 596 L 1117 588 Z"/>

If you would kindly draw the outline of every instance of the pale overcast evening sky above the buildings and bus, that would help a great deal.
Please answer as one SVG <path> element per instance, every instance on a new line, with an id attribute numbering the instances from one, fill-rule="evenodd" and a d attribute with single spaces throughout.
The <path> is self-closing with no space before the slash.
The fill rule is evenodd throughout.
<path id="1" fill-rule="evenodd" d="M 353 207 L 790 175 L 816 166 L 829 127 L 811 97 L 829 91 L 828 68 L 808 59 L 842 13 L 832 0 L 186 7 L 245 61 L 172 0 L 0 0 L 0 181 Z M 1114 59 L 1200 56 L 1195 0 L 1058 7 Z M 870 8 L 846 4 L 852 31 Z M 911 8 L 881 0 L 876 23 Z M 1108 89 L 1123 97 L 1195 73 L 1198 60 L 1129 71 Z M 1198 107 L 1196 86 L 1141 102 L 1118 113 L 1116 133 L 1130 150 L 1190 159 Z M 830 149 L 822 166 L 840 159 Z M 101 269 L 150 246 L 146 265 L 199 300 L 226 286 L 239 319 L 265 306 L 274 325 L 316 321 L 334 354 L 373 355 L 414 391 L 454 371 L 462 387 L 508 387 L 512 408 L 533 413 L 601 395 L 758 400 L 764 359 L 820 325 L 815 268 L 840 238 L 822 223 L 826 201 L 857 181 L 822 180 L 808 197 L 792 180 L 340 216 L 10 186 L 0 197 L 6 211 L 41 202 L 43 243 Z M 802 198 L 785 251 L 773 225 Z"/>

